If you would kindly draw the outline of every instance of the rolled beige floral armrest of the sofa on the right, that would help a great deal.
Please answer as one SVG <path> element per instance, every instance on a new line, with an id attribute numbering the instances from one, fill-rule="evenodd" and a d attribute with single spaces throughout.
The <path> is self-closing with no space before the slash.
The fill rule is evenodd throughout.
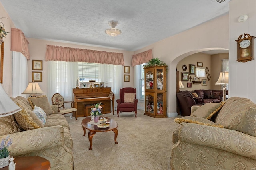
<path id="1" fill-rule="evenodd" d="M 179 140 L 256 160 L 256 137 L 235 130 L 183 122 L 180 124 Z"/>

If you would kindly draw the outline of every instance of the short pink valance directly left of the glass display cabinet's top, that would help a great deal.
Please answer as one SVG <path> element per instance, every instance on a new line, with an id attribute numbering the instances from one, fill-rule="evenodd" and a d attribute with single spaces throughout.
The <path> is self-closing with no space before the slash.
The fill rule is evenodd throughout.
<path id="1" fill-rule="evenodd" d="M 140 65 L 152 59 L 152 49 L 132 55 L 132 66 Z"/>

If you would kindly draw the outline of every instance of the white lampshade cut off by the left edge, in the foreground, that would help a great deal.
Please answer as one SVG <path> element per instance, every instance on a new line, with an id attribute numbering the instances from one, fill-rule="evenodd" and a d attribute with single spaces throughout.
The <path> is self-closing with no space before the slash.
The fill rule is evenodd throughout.
<path id="1" fill-rule="evenodd" d="M 21 110 L 22 108 L 12 101 L 12 99 L 4 91 L 2 85 L 0 85 L 0 117 L 12 115 Z"/>

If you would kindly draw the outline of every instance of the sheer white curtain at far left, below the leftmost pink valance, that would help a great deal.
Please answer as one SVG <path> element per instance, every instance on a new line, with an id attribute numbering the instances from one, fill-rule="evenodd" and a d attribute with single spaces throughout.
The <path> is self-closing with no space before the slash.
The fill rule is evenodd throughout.
<path id="1" fill-rule="evenodd" d="M 12 96 L 23 96 L 21 93 L 28 86 L 28 61 L 26 57 L 20 53 L 12 52 Z"/>

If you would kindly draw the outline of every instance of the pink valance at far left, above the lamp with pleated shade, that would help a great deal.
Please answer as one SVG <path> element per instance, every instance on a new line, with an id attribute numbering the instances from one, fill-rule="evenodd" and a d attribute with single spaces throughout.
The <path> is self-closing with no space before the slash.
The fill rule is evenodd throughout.
<path id="1" fill-rule="evenodd" d="M 20 29 L 11 28 L 11 51 L 21 52 L 27 59 L 30 59 L 28 44 L 28 40 Z"/>

